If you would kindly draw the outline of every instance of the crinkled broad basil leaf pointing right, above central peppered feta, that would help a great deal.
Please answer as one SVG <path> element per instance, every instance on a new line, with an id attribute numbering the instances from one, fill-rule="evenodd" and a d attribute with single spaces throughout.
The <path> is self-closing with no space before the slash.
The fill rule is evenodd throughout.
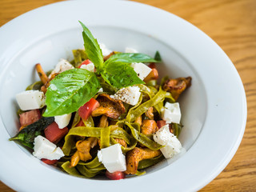
<path id="1" fill-rule="evenodd" d="M 137 84 L 145 84 L 138 78 L 134 68 L 125 62 L 106 62 L 101 70 L 102 78 L 118 89 L 126 86 L 134 86 Z"/>

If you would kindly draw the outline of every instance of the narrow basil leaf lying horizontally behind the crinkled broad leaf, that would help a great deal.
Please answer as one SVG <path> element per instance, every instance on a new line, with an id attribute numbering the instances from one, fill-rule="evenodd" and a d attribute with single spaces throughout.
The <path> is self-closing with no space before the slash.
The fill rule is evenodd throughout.
<path id="1" fill-rule="evenodd" d="M 113 54 L 106 62 L 158 62 L 147 54 L 120 53 Z"/>

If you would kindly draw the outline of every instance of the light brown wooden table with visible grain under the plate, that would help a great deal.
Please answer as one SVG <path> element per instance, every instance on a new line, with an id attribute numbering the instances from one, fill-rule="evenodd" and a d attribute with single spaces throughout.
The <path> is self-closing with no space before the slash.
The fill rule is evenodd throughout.
<path id="1" fill-rule="evenodd" d="M 0 0 L 0 26 L 26 11 L 52 2 L 59 1 Z M 136 0 L 136 2 L 167 10 L 198 26 L 222 47 L 234 63 L 246 89 L 248 105 L 246 132 L 230 164 L 201 191 L 256 191 L 256 1 Z M 0 191 L 13 190 L 0 182 Z"/>

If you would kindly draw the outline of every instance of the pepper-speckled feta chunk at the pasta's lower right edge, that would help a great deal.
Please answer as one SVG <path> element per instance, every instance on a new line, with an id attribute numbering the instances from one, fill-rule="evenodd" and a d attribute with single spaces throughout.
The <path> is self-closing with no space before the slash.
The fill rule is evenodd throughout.
<path id="1" fill-rule="evenodd" d="M 165 158 L 172 158 L 175 154 L 180 153 L 182 149 L 181 142 L 172 133 L 170 133 L 169 125 L 162 126 L 153 136 L 154 142 L 158 142 L 164 146 L 160 150 Z"/>

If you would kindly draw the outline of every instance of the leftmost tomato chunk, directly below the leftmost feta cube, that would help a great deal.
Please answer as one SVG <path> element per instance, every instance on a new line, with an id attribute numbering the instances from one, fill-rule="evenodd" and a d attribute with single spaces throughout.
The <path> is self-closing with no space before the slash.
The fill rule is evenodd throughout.
<path id="1" fill-rule="evenodd" d="M 19 122 L 21 123 L 21 126 L 28 126 L 33 122 L 38 121 L 40 118 L 42 118 L 40 110 L 30 110 L 19 115 Z"/>

